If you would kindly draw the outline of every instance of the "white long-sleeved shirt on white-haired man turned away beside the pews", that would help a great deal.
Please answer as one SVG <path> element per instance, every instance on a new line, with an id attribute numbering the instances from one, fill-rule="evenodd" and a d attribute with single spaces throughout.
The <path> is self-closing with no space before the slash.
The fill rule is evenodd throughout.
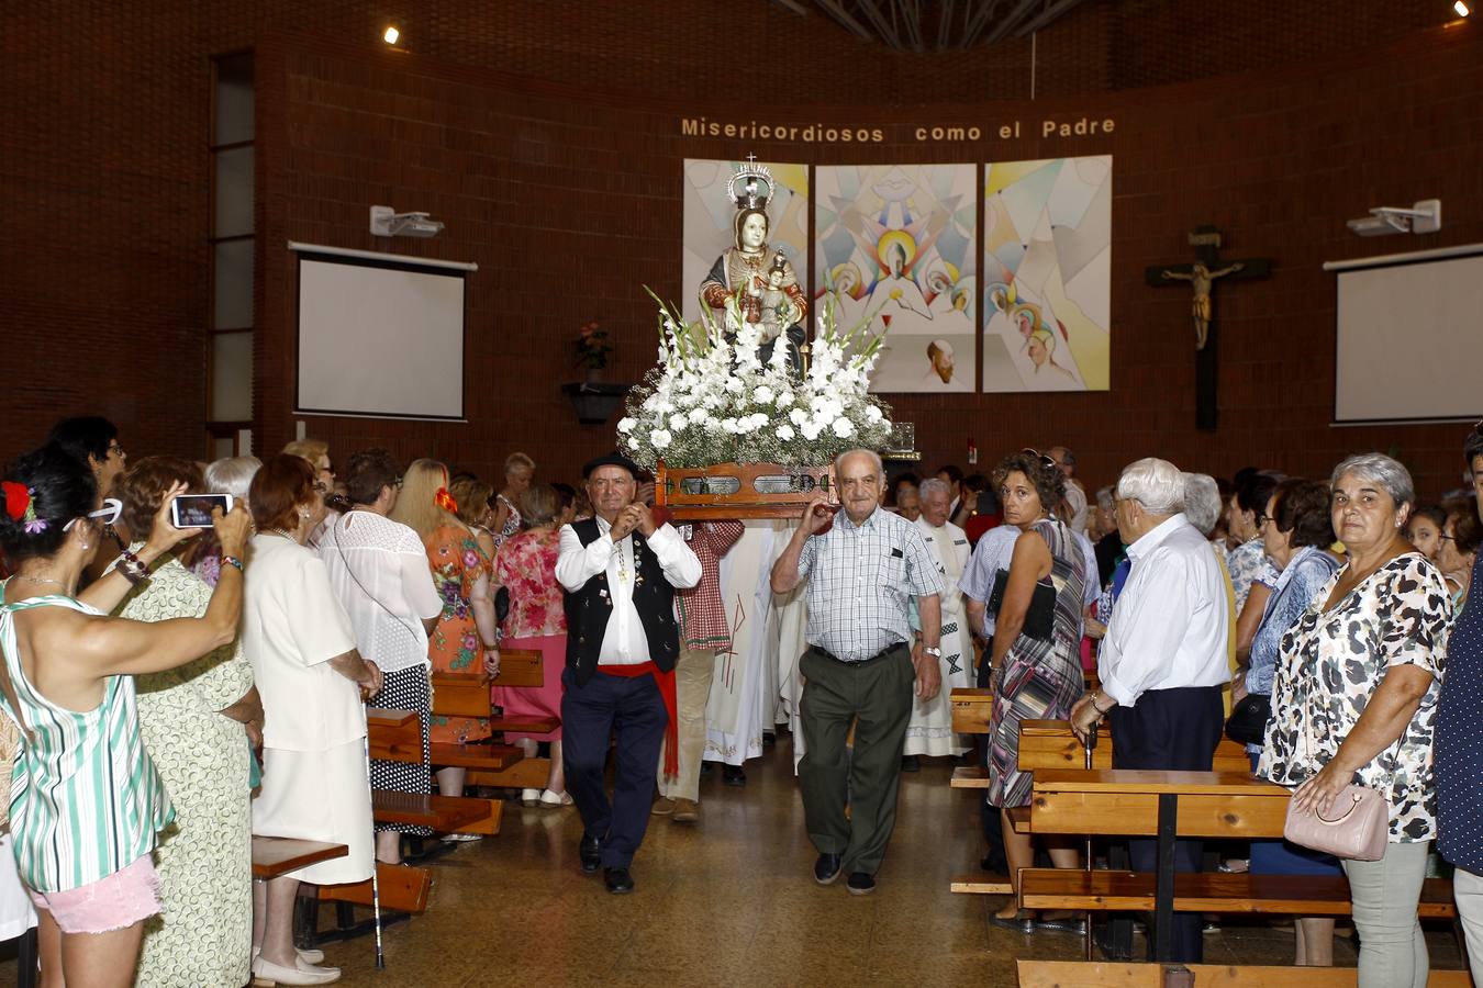
<path id="1" fill-rule="evenodd" d="M 1183 514 L 1127 547 L 1133 564 L 1097 656 L 1102 690 L 1133 707 L 1146 690 L 1231 681 L 1225 576 Z"/>

